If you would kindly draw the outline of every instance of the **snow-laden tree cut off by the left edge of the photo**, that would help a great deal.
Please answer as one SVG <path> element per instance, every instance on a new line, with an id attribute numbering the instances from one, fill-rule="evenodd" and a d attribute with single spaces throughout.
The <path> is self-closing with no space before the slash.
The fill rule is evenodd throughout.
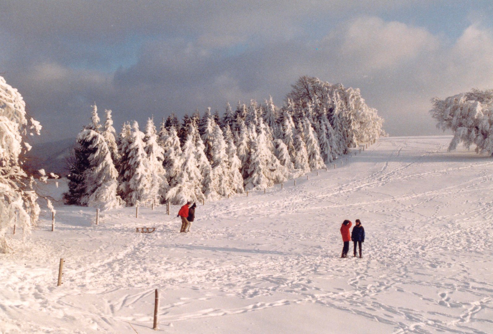
<path id="1" fill-rule="evenodd" d="M 26 117 L 26 102 L 17 89 L 0 76 L 0 252 L 7 253 L 5 234 L 17 220 L 23 236 L 31 231 L 40 212 L 32 185 L 34 179 L 22 168 L 21 154 L 31 146 L 24 141 L 27 131 L 39 134 L 41 126 Z"/>

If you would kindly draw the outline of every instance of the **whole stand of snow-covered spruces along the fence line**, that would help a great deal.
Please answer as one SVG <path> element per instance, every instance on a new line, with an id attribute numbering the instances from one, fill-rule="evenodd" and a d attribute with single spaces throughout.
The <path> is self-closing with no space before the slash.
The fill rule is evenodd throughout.
<path id="1" fill-rule="evenodd" d="M 359 89 L 300 77 L 282 107 L 272 98 L 211 114 L 175 114 L 142 129 L 126 122 L 117 135 L 111 110 L 97 106 L 70 158 L 68 204 L 123 205 L 218 200 L 324 168 L 359 142 L 384 134 L 382 118 Z M 143 130 L 143 131 L 142 131 Z"/>

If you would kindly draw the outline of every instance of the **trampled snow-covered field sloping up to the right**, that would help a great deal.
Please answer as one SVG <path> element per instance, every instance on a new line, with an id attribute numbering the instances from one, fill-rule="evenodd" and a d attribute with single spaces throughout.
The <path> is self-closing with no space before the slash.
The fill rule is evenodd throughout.
<path id="1" fill-rule="evenodd" d="M 0 255 L 0 332 L 156 333 L 157 288 L 158 333 L 491 334 L 493 159 L 450 139 L 382 138 L 296 186 L 201 203 L 188 234 L 177 206 L 95 225 L 59 205 L 55 232 L 45 212 Z M 356 218 L 363 258 L 341 259 Z"/>

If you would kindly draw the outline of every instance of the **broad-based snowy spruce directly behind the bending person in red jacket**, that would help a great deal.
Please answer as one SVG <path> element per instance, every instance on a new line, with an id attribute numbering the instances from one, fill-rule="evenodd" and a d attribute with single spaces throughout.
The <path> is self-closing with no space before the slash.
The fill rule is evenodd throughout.
<path id="1" fill-rule="evenodd" d="M 204 198 L 201 191 L 201 174 L 195 159 L 195 140 L 188 134 L 183 145 L 181 166 L 175 184 L 166 194 L 166 200 L 172 204 L 182 204 L 188 200 L 199 201 Z"/>

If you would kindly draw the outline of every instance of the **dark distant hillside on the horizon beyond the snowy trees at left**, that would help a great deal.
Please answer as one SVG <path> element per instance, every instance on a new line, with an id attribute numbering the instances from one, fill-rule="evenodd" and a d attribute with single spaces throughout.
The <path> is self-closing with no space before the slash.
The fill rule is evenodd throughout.
<path id="1" fill-rule="evenodd" d="M 67 158 L 75 144 L 75 138 L 66 138 L 41 144 L 33 144 L 28 153 L 28 168 L 44 168 L 46 172 L 66 175 L 69 172 Z"/>

